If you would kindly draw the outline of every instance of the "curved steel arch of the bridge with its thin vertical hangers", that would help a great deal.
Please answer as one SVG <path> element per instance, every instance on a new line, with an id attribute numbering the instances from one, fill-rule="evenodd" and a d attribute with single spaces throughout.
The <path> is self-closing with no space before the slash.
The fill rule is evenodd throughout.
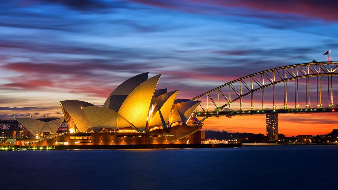
<path id="1" fill-rule="evenodd" d="M 231 103 L 239 100 L 240 101 L 240 110 L 242 110 L 242 98 L 245 96 L 250 96 L 251 98 L 251 110 L 254 109 L 253 106 L 253 93 L 261 90 L 262 92 L 262 110 L 265 109 L 265 91 L 266 87 L 272 86 L 273 91 L 273 109 L 276 109 L 276 89 L 275 85 L 279 83 L 284 84 L 284 109 L 288 107 L 287 100 L 287 84 L 288 81 L 294 81 L 294 94 L 295 94 L 295 107 L 299 108 L 298 103 L 298 79 L 305 78 L 306 80 L 306 108 L 310 108 L 310 77 L 317 77 L 317 108 L 322 108 L 322 96 L 321 96 L 321 86 L 322 86 L 322 77 L 328 77 L 331 81 L 331 103 L 329 99 L 328 107 L 333 107 L 333 89 L 332 89 L 332 77 L 338 76 L 337 72 L 338 62 L 334 61 L 323 61 L 316 62 L 312 61 L 310 63 L 301 63 L 293 64 L 288 66 L 277 67 L 274 69 L 258 72 L 255 74 L 250 74 L 245 77 L 227 82 L 221 86 L 218 86 L 210 91 L 207 91 L 199 96 L 192 98 L 191 100 L 198 100 L 200 98 L 206 97 L 207 99 L 207 109 L 205 110 L 202 105 L 201 108 L 204 112 L 209 112 L 209 99 L 212 101 L 215 106 L 215 110 L 219 111 L 224 109 L 226 106 L 231 110 Z M 326 77 L 325 77 L 326 78 Z M 244 86 L 244 88 L 242 88 Z M 221 88 L 225 88 L 227 93 L 225 94 Z M 243 90 L 244 89 L 244 90 Z M 330 88 L 329 88 L 330 89 Z M 246 91 L 245 91 L 246 90 Z M 217 101 L 215 101 L 210 93 L 217 91 Z M 234 93 L 231 93 L 234 91 Z M 226 100 L 226 103 L 220 105 L 219 94 L 223 96 Z M 232 96 L 234 98 L 232 98 Z M 326 107 L 326 106 L 325 106 Z"/>

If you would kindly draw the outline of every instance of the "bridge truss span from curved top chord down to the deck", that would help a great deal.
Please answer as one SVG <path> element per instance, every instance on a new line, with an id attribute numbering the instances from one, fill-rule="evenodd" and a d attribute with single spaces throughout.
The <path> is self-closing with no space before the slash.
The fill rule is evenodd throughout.
<path id="1" fill-rule="evenodd" d="M 300 109 L 303 108 L 299 106 L 299 93 L 300 90 L 302 92 L 302 98 L 306 100 L 306 105 L 304 105 L 305 109 L 317 109 L 322 110 L 323 108 L 327 108 L 328 110 L 334 108 L 334 101 L 333 101 L 333 76 L 338 76 L 337 73 L 338 62 L 316 62 L 312 61 L 310 63 L 301 63 L 301 64 L 293 64 L 283 67 L 277 67 L 274 69 L 262 71 L 255 74 L 250 74 L 245 77 L 227 82 L 221 86 L 218 86 L 210 91 L 207 91 L 197 97 L 192 98 L 191 100 L 206 100 L 206 103 L 200 105 L 201 110 L 198 111 L 196 109 L 196 116 L 202 116 L 204 113 L 210 115 L 210 113 L 217 113 L 217 112 L 231 112 L 232 107 L 231 105 L 234 102 L 239 101 L 239 108 L 237 111 L 242 111 L 243 109 L 243 102 L 242 99 L 245 97 L 250 97 L 250 108 L 249 111 L 264 111 L 266 109 L 284 109 L 284 110 L 291 110 L 291 109 Z M 314 77 L 316 82 L 310 78 Z M 302 80 L 302 83 L 299 84 L 299 80 Z M 305 81 L 305 83 L 304 83 Z M 311 88 L 310 88 L 311 83 Z M 327 83 L 327 84 L 326 84 Z M 283 91 L 276 90 L 276 85 L 283 84 Z M 299 87 L 301 85 L 301 88 Z M 305 85 L 305 86 L 304 86 Z M 316 86 L 314 89 L 313 86 Z M 327 86 L 326 86 L 327 85 Z M 291 90 L 290 90 L 291 86 Z M 324 97 L 323 95 L 323 88 L 325 90 L 327 88 L 327 95 L 328 97 Z M 269 91 L 266 91 L 266 90 Z M 271 90 L 272 89 L 272 90 Z M 272 94 L 271 94 L 272 91 Z M 261 99 L 258 102 L 261 103 L 262 107 L 254 109 L 254 92 L 260 92 Z M 310 92 L 311 95 L 310 96 Z M 269 96 L 272 96 L 272 107 L 266 108 L 266 93 Z M 280 97 L 283 93 L 284 97 L 284 105 L 279 105 L 280 108 L 277 107 L 276 104 L 276 93 Z M 316 100 L 313 100 L 313 93 L 317 93 L 315 95 Z M 292 100 L 289 98 L 290 94 L 292 94 Z M 326 92 L 325 92 L 326 94 Z M 223 100 L 220 100 L 223 99 Z M 294 98 L 294 100 L 293 100 Z M 312 102 L 317 101 L 316 106 L 312 106 L 310 104 L 310 98 Z M 325 103 L 328 102 L 328 105 L 323 106 L 323 98 L 325 99 Z M 257 99 L 255 99 L 257 101 Z M 211 103 L 210 103 L 211 102 Z M 210 107 L 210 105 L 212 107 Z M 270 102 L 271 104 L 271 102 Z M 227 107 L 227 108 L 226 108 Z M 213 109 L 214 108 L 214 109 Z M 291 109 L 290 109 L 291 108 Z M 304 109 L 304 110 L 305 110 Z M 201 114 L 202 113 L 202 114 Z M 262 112 L 261 112 L 262 113 Z M 211 115 L 210 115 L 211 116 Z"/>

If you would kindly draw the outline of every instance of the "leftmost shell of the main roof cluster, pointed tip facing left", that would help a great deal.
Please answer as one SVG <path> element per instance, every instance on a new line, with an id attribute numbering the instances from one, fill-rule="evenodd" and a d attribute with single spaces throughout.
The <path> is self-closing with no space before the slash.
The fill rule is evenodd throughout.
<path id="1" fill-rule="evenodd" d="M 61 101 L 60 104 L 61 104 L 61 107 L 63 108 L 67 124 L 68 124 L 68 121 L 70 121 L 70 123 L 73 121 L 77 129 L 80 132 L 87 131 L 90 125 L 86 117 L 86 114 L 84 114 L 81 107 L 95 106 L 95 105 L 88 103 L 88 102 L 78 101 L 78 100 L 65 100 L 65 101 Z M 68 117 L 66 117 L 66 114 L 69 114 L 71 118 L 69 119 Z"/>

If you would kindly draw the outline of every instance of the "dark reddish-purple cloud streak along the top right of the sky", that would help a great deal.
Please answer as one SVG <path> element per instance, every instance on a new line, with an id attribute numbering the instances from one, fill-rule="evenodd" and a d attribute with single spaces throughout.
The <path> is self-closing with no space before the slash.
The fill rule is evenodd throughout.
<path id="1" fill-rule="evenodd" d="M 271 12 L 287 15 L 284 19 L 293 19 L 291 15 L 299 15 L 309 19 L 321 19 L 327 21 L 338 21 L 338 7 L 337 1 L 325 1 L 325 3 L 315 0 L 286 0 L 286 1 L 251 1 L 251 0 L 238 0 L 238 1 L 220 1 L 220 0 L 183 0 L 183 1 L 164 1 L 164 0 L 134 0 L 134 2 L 157 6 L 167 9 L 174 9 L 185 12 L 194 12 L 200 14 L 228 14 L 233 15 L 228 8 L 242 8 L 239 14 L 251 15 L 261 18 L 272 18 L 276 16 L 264 15 L 263 12 Z M 328 6 L 330 5 L 330 6 Z M 224 9 L 220 11 L 219 9 Z M 243 10 L 243 8 L 249 8 L 249 11 Z M 239 15 L 238 14 L 238 15 Z M 298 18 L 300 19 L 300 18 Z"/>

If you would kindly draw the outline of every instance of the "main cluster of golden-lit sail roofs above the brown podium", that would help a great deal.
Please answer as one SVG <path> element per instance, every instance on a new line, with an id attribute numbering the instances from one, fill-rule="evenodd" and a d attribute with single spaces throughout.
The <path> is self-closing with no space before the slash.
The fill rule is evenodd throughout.
<path id="1" fill-rule="evenodd" d="M 177 121 L 187 124 L 201 101 L 175 100 L 178 90 L 155 90 L 161 75 L 147 77 L 148 73 L 143 73 L 123 82 L 103 107 L 76 100 L 60 102 L 69 130 L 74 132 L 77 128 L 85 132 L 90 128 L 100 131 L 102 128 L 132 127 L 143 132 L 153 126 L 167 129 Z"/>

